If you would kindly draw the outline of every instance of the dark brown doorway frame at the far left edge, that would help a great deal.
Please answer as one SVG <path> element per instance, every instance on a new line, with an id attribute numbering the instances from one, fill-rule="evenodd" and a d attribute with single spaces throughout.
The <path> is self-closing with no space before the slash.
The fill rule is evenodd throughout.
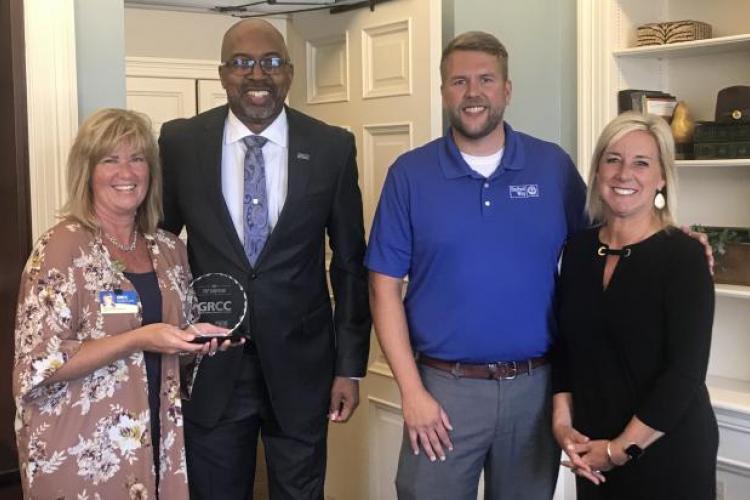
<path id="1" fill-rule="evenodd" d="M 21 498 L 13 431 L 13 327 L 31 251 L 23 0 L 0 2 L 0 498 Z"/>

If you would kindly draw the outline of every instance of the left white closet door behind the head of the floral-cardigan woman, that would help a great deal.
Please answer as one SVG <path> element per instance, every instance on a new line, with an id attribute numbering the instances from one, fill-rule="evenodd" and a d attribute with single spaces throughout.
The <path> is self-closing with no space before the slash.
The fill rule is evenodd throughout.
<path id="1" fill-rule="evenodd" d="M 125 79 L 125 90 L 128 109 L 148 115 L 155 136 L 159 135 L 164 122 L 195 115 L 195 80 L 192 78 L 129 76 Z"/>

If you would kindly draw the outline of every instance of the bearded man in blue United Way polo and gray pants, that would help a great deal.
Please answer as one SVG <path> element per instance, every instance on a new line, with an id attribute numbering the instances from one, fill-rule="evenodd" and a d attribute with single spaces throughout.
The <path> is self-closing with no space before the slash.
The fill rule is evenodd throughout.
<path id="1" fill-rule="evenodd" d="M 373 319 L 405 423 L 401 500 L 475 499 L 482 470 L 486 498 L 554 491 L 546 355 L 585 186 L 560 147 L 503 122 L 507 61 L 486 33 L 445 48 L 451 127 L 391 167 L 370 233 Z"/>

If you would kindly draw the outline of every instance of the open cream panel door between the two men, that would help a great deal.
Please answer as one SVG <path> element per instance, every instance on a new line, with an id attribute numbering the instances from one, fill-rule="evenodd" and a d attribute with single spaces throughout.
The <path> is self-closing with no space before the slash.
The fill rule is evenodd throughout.
<path id="1" fill-rule="evenodd" d="M 289 103 L 355 135 L 368 233 L 388 167 L 441 133 L 440 8 L 400 0 L 374 12 L 296 14 L 287 25 Z M 401 426 L 398 388 L 373 336 L 360 407 L 329 428 L 326 500 L 395 499 Z"/>

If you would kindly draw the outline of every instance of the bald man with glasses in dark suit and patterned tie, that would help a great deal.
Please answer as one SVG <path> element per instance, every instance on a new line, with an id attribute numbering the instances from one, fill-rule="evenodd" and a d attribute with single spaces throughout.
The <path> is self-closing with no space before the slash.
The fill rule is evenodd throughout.
<path id="1" fill-rule="evenodd" d="M 235 24 L 221 58 L 228 107 L 159 139 L 164 227 L 187 228 L 195 276 L 230 274 L 249 301 L 251 340 L 204 358 L 184 404 L 191 498 L 248 498 L 260 433 L 271 497 L 322 499 L 328 418 L 356 408 L 369 349 L 354 138 L 284 106 L 294 70 L 271 24 Z"/>

